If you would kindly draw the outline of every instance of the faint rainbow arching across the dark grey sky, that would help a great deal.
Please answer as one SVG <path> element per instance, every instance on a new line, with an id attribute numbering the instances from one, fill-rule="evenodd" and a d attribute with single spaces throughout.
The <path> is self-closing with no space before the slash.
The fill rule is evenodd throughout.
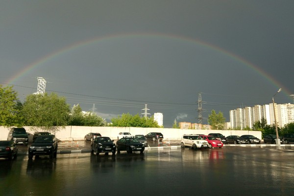
<path id="1" fill-rule="evenodd" d="M 253 71 L 259 73 L 263 78 L 268 80 L 276 89 L 282 88 L 283 93 L 285 95 L 290 95 L 290 91 L 285 88 L 279 81 L 275 80 L 272 76 L 270 76 L 268 73 L 266 73 L 264 70 L 258 68 L 257 66 L 253 65 L 252 63 L 248 62 L 244 58 L 233 54 L 227 50 L 221 49 L 217 46 L 211 45 L 209 43 L 205 43 L 201 40 L 197 39 L 192 39 L 192 38 L 187 38 L 183 36 L 177 36 L 177 35 L 170 35 L 170 34 L 160 34 L 160 33 L 133 33 L 133 34 L 114 34 L 114 35 L 108 35 L 108 36 L 103 36 L 103 37 L 96 37 L 93 39 L 88 39 L 80 42 L 76 42 L 72 45 L 66 46 L 64 48 L 61 48 L 59 50 L 53 51 L 46 56 L 43 56 L 42 58 L 34 61 L 33 63 L 27 65 L 23 70 L 21 70 L 19 73 L 13 75 L 11 78 L 9 78 L 5 83 L 6 84 L 13 84 L 15 81 L 18 80 L 18 78 L 24 76 L 25 74 L 29 73 L 31 70 L 34 68 L 41 66 L 45 62 L 56 58 L 57 56 L 60 56 L 66 52 L 70 52 L 74 49 L 85 47 L 88 45 L 92 44 L 98 44 L 100 42 L 105 42 L 105 41 L 110 41 L 110 40 L 115 40 L 115 39 L 122 39 L 122 38 L 160 38 L 160 39 L 171 39 L 171 40 L 176 40 L 176 41 L 182 41 L 182 42 L 188 42 L 188 43 L 193 43 L 196 44 L 200 47 L 206 48 L 206 49 L 211 49 L 216 52 L 219 52 L 223 55 L 228 56 L 229 58 L 242 63 L 243 65 L 249 67 Z"/>

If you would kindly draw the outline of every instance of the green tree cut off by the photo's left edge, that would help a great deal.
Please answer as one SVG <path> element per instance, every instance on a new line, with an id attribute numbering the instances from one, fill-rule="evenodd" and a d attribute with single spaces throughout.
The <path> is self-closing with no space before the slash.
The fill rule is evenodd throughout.
<path id="1" fill-rule="evenodd" d="M 10 87 L 0 85 L 0 125 L 21 125 L 18 117 L 21 110 L 21 102 L 17 98 L 17 92 Z"/>

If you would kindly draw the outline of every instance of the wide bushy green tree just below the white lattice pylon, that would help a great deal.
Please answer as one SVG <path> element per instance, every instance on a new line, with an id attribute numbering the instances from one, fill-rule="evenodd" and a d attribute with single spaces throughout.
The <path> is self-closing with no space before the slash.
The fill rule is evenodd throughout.
<path id="1" fill-rule="evenodd" d="M 56 94 L 28 95 L 22 114 L 27 126 L 39 126 L 47 129 L 52 126 L 65 126 L 69 121 L 70 106 L 65 98 Z"/>

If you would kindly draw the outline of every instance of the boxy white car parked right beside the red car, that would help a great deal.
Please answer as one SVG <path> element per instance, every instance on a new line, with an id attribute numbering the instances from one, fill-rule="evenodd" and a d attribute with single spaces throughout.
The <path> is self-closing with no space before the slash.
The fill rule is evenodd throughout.
<path id="1" fill-rule="evenodd" d="M 209 144 L 199 135 L 184 134 L 181 139 L 181 147 L 193 147 L 193 149 L 200 149 L 209 147 Z"/>

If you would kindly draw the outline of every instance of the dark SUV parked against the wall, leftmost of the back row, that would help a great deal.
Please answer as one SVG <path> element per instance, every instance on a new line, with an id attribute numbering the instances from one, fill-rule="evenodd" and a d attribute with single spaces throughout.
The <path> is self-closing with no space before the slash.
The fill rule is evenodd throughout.
<path id="1" fill-rule="evenodd" d="M 28 143 L 28 135 L 25 128 L 11 128 L 7 140 L 13 141 L 16 145 L 25 145 Z"/>

